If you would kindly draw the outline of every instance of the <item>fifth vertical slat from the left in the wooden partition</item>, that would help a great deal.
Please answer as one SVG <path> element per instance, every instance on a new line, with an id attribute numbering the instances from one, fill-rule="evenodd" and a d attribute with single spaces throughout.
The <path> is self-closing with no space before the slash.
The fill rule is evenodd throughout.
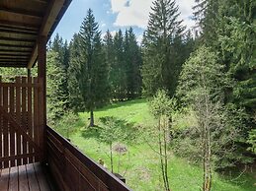
<path id="1" fill-rule="evenodd" d="M 33 129 L 32 129 L 32 78 L 28 77 L 28 133 L 29 136 L 34 140 Z M 29 153 L 33 153 L 33 148 L 29 145 Z M 29 158 L 29 162 L 33 162 L 33 158 Z"/>

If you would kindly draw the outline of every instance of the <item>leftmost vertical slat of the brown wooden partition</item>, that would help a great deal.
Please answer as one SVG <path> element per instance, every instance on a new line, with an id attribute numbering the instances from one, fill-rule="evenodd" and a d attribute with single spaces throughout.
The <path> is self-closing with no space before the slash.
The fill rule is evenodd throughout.
<path id="1" fill-rule="evenodd" d="M 8 87 L 3 88 L 3 108 L 8 112 Z M 9 157 L 9 125 L 3 120 L 4 157 Z M 9 161 L 4 161 L 4 167 L 9 167 Z"/>

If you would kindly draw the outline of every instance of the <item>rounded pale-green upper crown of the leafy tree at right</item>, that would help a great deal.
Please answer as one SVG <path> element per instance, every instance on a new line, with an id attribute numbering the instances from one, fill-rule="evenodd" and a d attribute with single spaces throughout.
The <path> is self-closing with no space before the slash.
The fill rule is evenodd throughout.
<path id="1" fill-rule="evenodd" d="M 201 46 L 183 66 L 178 95 L 189 102 L 207 91 L 211 98 L 221 100 L 223 90 L 232 86 L 223 68 L 218 63 L 217 54 L 211 48 Z"/>

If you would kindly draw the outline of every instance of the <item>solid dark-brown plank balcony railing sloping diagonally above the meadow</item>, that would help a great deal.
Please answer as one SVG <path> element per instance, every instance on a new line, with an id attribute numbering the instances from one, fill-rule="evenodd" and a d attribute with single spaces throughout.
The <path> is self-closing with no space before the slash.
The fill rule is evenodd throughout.
<path id="1" fill-rule="evenodd" d="M 49 169 L 61 190 L 129 191 L 127 185 L 46 127 Z"/>

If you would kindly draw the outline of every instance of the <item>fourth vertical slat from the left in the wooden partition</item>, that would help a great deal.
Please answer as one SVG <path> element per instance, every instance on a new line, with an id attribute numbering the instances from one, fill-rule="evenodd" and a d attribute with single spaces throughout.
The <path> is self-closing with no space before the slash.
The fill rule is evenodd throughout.
<path id="1" fill-rule="evenodd" d="M 28 133 L 28 129 L 27 129 L 27 93 L 26 93 L 26 77 L 22 77 L 22 84 L 23 84 L 23 88 L 22 88 L 22 128 L 24 128 L 24 131 L 26 133 Z M 22 148 L 23 148 L 23 154 L 28 154 L 27 151 L 27 144 L 28 142 L 25 141 L 24 137 L 23 137 L 23 141 L 22 141 Z M 23 159 L 23 164 L 27 164 L 28 163 L 28 159 Z"/>

